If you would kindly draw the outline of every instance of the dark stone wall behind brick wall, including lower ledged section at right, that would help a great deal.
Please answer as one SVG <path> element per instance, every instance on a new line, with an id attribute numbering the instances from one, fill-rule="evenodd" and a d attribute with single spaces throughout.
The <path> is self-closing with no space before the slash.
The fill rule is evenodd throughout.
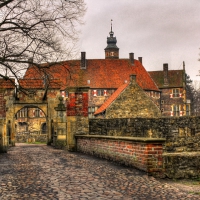
<path id="1" fill-rule="evenodd" d="M 91 136 L 165 138 L 165 176 L 200 177 L 200 117 L 91 119 L 89 125 Z"/>

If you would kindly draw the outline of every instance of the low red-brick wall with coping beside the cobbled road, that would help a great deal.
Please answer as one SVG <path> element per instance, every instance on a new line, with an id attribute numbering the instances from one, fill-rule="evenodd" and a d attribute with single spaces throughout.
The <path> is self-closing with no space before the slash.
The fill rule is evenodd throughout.
<path id="1" fill-rule="evenodd" d="M 77 150 L 162 176 L 164 139 L 76 136 Z"/>

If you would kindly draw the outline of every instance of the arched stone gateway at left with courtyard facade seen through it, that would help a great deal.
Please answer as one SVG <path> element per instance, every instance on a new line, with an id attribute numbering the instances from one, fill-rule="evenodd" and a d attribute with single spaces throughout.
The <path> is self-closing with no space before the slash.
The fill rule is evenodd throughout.
<path id="1" fill-rule="evenodd" d="M 15 103 L 6 112 L 7 142 L 50 142 L 48 103 Z"/>

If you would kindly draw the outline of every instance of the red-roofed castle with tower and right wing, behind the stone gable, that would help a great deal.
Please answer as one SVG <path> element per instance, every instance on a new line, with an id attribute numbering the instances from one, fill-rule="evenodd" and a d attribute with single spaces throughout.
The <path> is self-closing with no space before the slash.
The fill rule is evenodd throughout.
<path id="1" fill-rule="evenodd" d="M 59 90 L 67 106 L 67 116 L 94 117 L 94 113 L 122 85 L 129 83 L 130 75 L 136 75 L 138 86 L 162 111 L 163 116 L 190 115 L 190 104 L 186 99 L 185 69 L 147 72 L 142 58 L 129 53 L 127 59 L 119 58 L 117 39 L 112 30 L 107 37 L 105 59 L 87 59 L 81 52 L 80 60 L 42 64 L 42 72 L 29 66 L 20 84 L 29 91 L 28 97 L 18 92 L 19 101 L 33 98 L 38 101 L 55 98 Z M 80 92 L 81 91 L 81 92 Z M 84 91 L 84 92 L 83 92 Z M 137 95 L 136 93 L 134 95 Z M 141 99 L 142 101 L 142 99 Z M 21 123 L 21 122 L 20 122 Z"/>

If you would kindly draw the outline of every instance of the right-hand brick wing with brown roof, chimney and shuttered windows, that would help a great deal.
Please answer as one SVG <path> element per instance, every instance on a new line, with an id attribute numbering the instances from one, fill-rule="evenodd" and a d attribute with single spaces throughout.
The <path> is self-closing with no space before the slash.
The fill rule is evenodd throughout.
<path id="1" fill-rule="evenodd" d="M 187 97 L 184 63 L 182 70 L 168 70 L 168 64 L 165 63 L 163 71 L 152 71 L 149 74 L 161 91 L 162 116 L 190 116 L 191 99 Z"/>

